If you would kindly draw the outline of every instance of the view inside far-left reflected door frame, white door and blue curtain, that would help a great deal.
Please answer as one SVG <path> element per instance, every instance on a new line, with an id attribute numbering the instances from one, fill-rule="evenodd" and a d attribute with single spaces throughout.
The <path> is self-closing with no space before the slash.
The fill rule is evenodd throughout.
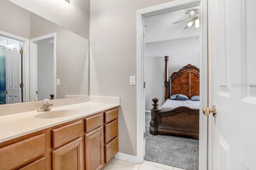
<path id="1" fill-rule="evenodd" d="M 22 102 L 22 43 L 0 36 L 0 104 Z"/>

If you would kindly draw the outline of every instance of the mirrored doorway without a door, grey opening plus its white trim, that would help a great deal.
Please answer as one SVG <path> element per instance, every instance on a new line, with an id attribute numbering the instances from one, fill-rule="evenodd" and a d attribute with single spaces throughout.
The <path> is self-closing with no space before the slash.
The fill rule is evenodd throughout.
<path id="1" fill-rule="evenodd" d="M 30 101 L 56 98 L 56 34 L 30 39 Z"/>

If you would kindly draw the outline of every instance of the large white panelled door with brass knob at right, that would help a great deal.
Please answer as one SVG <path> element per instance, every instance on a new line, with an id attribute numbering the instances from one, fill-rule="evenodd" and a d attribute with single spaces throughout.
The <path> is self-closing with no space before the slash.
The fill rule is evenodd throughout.
<path id="1" fill-rule="evenodd" d="M 217 107 L 209 115 L 210 170 L 256 169 L 255 7 L 209 0 L 209 107 Z"/>

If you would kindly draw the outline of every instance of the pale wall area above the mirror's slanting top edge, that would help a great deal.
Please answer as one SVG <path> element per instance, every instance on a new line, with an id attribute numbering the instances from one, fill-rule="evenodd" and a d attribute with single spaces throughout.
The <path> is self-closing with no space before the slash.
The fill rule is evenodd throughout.
<path id="1" fill-rule="evenodd" d="M 89 39 L 90 0 L 70 0 L 70 3 L 66 2 L 65 0 L 9 1 Z M 22 16 L 17 17 L 20 18 Z"/>

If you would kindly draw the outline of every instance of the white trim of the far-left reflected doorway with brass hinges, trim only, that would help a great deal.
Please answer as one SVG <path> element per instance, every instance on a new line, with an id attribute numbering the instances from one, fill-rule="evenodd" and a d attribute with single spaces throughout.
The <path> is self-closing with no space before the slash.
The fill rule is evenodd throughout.
<path id="1" fill-rule="evenodd" d="M 23 102 L 29 102 L 29 39 L 0 31 L 0 35 L 22 42 Z"/>

